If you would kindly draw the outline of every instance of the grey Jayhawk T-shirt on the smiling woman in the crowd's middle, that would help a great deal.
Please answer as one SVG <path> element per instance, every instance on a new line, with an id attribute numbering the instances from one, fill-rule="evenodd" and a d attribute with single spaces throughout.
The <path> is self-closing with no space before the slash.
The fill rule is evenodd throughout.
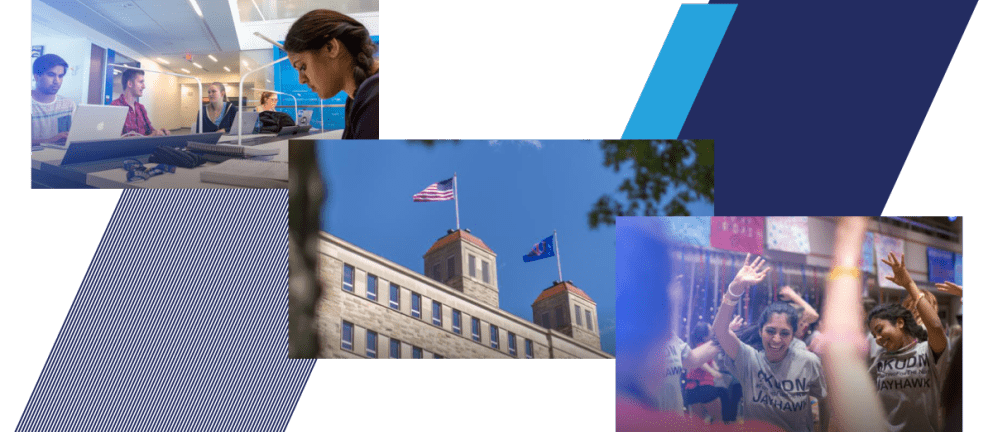
<path id="1" fill-rule="evenodd" d="M 773 363 L 765 352 L 738 341 L 737 360 L 725 356 L 723 363 L 741 381 L 746 419 L 788 431 L 814 429 L 810 396 L 827 396 L 821 360 L 814 353 L 791 347 L 786 357 Z"/>

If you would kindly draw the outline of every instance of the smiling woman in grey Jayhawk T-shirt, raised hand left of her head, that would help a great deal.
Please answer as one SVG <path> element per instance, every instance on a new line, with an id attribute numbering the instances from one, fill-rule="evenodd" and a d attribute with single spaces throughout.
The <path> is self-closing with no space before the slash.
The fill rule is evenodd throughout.
<path id="1" fill-rule="evenodd" d="M 728 285 L 714 318 L 714 332 L 724 350 L 724 366 L 741 381 L 745 404 L 742 415 L 776 425 L 784 430 L 814 428 L 810 396 L 825 398 L 821 361 L 801 349 L 791 349 L 800 321 L 797 310 L 785 302 L 774 302 L 756 321 L 761 348 L 743 343 L 730 330 L 731 314 L 750 286 L 765 279 L 765 260 L 746 256 L 745 265 Z"/>

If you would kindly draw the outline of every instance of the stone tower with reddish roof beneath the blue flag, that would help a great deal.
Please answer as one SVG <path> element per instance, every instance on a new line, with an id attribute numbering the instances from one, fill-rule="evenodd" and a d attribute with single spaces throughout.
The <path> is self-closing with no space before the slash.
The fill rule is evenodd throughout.
<path id="1" fill-rule="evenodd" d="M 534 323 L 572 336 L 578 342 L 600 349 L 596 302 L 572 281 L 555 281 L 534 303 Z"/>

